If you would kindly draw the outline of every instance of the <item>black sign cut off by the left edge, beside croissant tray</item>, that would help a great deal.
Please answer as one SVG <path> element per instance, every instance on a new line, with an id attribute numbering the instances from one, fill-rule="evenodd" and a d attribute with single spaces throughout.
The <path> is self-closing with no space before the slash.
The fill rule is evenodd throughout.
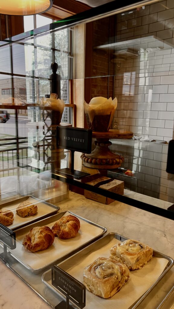
<path id="1" fill-rule="evenodd" d="M 0 223 L 0 241 L 4 243 L 8 248 L 16 248 L 16 235 L 7 226 Z"/>

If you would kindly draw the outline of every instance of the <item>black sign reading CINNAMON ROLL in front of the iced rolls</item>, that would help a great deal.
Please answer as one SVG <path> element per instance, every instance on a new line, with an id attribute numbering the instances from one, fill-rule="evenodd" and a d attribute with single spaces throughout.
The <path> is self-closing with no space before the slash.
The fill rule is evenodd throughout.
<path id="1" fill-rule="evenodd" d="M 69 298 L 79 308 L 82 309 L 85 307 L 86 288 L 80 281 L 55 265 L 51 269 L 51 278 L 52 285 L 63 295 Z"/>

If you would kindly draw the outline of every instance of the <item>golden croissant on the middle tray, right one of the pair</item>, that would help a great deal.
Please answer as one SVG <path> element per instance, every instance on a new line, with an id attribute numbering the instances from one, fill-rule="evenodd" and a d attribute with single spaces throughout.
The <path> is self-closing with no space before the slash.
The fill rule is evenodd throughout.
<path id="1" fill-rule="evenodd" d="M 60 218 L 52 227 L 54 236 L 60 239 L 75 237 L 80 229 L 80 221 L 72 215 Z"/>

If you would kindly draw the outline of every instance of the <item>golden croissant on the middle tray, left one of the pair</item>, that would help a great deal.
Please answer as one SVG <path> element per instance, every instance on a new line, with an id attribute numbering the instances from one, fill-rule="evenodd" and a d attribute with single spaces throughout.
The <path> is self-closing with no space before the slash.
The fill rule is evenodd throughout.
<path id="1" fill-rule="evenodd" d="M 22 244 L 27 250 L 36 252 L 47 249 L 53 242 L 54 233 L 48 226 L 36 226 L 27 233 Z"/>

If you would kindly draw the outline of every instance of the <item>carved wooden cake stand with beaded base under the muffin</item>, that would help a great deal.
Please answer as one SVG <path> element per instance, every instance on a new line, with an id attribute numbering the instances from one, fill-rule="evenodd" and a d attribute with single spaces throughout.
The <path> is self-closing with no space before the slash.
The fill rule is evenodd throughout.
<path id="1" fill-rule="evenodd" d="M 133 132 L 109 130 L 108 132 L 93 132 L 93 137 L 96 138 L 96 141 L 94 142 L 96 147 L 90 154 L 81 155 L 83 165 L 103 170 L 120 167 L 121 163 L 124 162 L 124 158 L 109 150 L 108 146 L 112 145 L 109 139 L 132 138 Z"/>

